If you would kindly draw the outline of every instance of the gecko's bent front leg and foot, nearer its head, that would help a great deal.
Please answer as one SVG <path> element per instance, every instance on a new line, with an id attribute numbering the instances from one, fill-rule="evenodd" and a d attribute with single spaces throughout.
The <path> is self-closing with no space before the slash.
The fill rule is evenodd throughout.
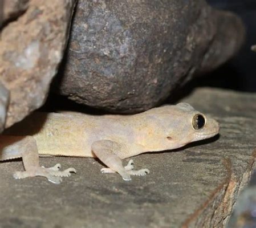
<path id="1" fill-rule="evenodd" d="M 109 168 L 101 169 L 103 173 L 117 172 L 123 180 L 131 180 L 131 175 L 144 176 L 149 173 L 148 169 L 133 170 L 133 161 L 130 160 L 127 166 L 123 166 L 119 153 L 125 152 L 126 146 L 111 140 L 99 140 L 92 144 L 92 151 Z M 128 151 L 127 151 L 128 153 Z"/>

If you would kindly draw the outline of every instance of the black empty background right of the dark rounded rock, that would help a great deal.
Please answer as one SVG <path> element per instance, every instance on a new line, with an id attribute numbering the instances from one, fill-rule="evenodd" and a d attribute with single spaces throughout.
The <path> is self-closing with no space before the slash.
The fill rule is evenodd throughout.
<path id="1" fill-rule="evenodd" d="M 206 0 L 218 9 L 237 13 L 247 30 L 246 42 L 241 51 L 224 66 L 193 82 L 199 86 L 230 88 L 238 91 L 256 92 L 256 0 Z"/>

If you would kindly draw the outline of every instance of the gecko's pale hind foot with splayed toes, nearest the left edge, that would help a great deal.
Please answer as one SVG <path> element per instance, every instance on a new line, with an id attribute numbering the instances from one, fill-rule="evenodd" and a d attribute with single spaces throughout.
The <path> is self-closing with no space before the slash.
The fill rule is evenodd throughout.
<path id="1" fill-rule="evenodd" d="M 26 177 L 35 177 L 35 176 L 41 176 L 46 177 L 48 181 L 54 183 L 54 184 L 60 184 L 62 182 L 61 177 L 69 177 L 72 173 L 76 173 L 76 170 L 74 168 L 68 168 L 63 171 L 59 171 L 60 164 L 57 164 L 51 168 L 44 168 L 41 167 L 35 167 L 31 168 L 29 170 L 26 170 L 24 172 L 15 172 L 13 174 L 13 177 L 16 179 L 22 179 Z"/>

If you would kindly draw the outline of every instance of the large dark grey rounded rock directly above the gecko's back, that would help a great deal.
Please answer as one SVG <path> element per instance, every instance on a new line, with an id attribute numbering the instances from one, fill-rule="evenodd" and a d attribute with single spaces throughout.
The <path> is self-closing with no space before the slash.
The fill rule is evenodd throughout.
<path id="1" fill-rule="evenodd" d="M 60 94 L 111 112 L 151 108 L 241 46 L 235 15 L 200 1 L 80 0 Z"/>

